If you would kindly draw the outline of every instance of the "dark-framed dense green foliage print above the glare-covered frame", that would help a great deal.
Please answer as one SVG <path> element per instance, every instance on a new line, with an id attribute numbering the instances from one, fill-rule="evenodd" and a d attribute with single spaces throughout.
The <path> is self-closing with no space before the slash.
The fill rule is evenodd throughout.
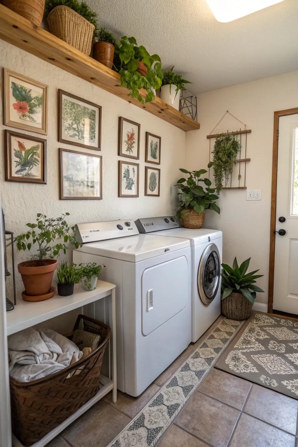
<path id="1" fill-rule="evenodd" d="M 58 141 L 101 150 L 101 105 L 58 89 Z"/>

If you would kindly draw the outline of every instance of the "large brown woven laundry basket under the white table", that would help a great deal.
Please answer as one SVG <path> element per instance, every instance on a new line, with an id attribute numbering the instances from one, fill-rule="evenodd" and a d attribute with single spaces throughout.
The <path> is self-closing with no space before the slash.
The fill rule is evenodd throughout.
<path id="1" fill-rule="evenodd" d="M 79 329 L 81 319 L 85 331 L 101 335 L 101 344 L 91 354 L 42 379 L 18 382 L 10 378 L 13 433 L 24 446 L 42 439 L 99 391 L 101 363 L 111 330 L 100 321 L 79 315 L 73 332 Z M 73 332 L 67 338 L 71 339 Z M 80 374 L 75 375 L 79 369 Z"/>

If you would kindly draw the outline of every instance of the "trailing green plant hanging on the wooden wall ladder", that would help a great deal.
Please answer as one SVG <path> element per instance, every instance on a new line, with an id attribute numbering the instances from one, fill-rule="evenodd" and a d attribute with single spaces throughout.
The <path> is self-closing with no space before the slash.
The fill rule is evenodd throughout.
<path id="1" fill-rule="evenodd" d="M 233 167 L 237 163 L 237 155 L 241 149 L 240 141 L 235 135 L 222 134 L 215 139 L 213 149 L 214 183 L 217 194 L 226 187 L 232 175 Z M 238 176 L 240 180 L 241 176 Z"/>

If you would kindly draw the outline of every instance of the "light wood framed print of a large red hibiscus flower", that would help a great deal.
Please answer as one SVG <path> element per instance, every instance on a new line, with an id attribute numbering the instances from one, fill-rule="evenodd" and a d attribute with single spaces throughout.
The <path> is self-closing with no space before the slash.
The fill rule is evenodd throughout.
<path id="1" fill-rule="evenodd" d="M 48 86 L 4 68 L 4 125 L 47 133 Z"/>

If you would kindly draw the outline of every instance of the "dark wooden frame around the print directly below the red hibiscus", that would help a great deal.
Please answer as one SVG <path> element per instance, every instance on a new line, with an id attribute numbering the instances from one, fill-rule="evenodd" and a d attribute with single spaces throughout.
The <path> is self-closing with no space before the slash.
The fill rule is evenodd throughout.
<path id="1" fill-rule="evenodd" d="M 20 139 L 27 139 L 32 141 L 37 141 L 42 143 L 42 178 L 32 178 L 32 177 L 13 177 L 12 166 L 13 160 L 11 157 L 11 135 L 18 137 Z M 20 132 L 5 130 L 5 180 L 6 181 L 17 181 L 24 183 L 41 183 L 46 185 L 46 139 L 33 137 L 32 135 L 21 134 Z"/>

